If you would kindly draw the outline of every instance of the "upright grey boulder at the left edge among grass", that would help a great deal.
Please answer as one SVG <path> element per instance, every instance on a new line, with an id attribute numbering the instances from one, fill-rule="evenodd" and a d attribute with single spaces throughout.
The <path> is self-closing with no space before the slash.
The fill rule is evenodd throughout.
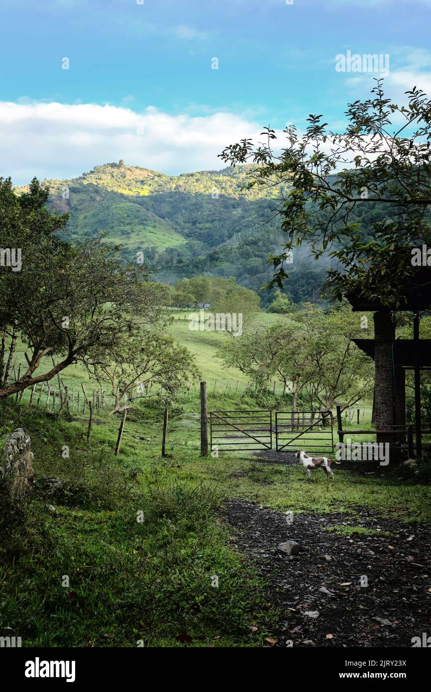
<path id="1" fill-rule="evenodd" d="M 21 505 L 33 489 L 34 476 L 30 435 L 25 428 L 18 428 L 6 437 L 0 449 L 2 499 Z"/>

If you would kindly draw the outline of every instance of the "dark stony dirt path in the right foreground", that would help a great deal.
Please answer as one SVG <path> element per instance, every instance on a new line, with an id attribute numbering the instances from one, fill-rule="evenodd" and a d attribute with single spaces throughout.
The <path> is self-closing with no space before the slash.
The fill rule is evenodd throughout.
<path id="1" fill-rule="evenodd" d="M 232 543 L 269 579 L 268 597 L 282 610 L 276 646 L 411 647 L 412 637 L 431 635 L 430 525 L 363 509 L 355 516 L 296 514 L 288 525 L 285 513 L 239 501 L 226 505 L 226 518 Z M 324 530 L 343 524 L 392 535 Z M 304 551 L 281 552 L 286 540 Z"/>

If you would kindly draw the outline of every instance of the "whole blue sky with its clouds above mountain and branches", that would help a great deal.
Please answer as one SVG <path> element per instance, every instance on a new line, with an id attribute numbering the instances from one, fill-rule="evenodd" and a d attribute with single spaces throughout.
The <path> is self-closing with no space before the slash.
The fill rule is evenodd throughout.
<path id="1" fill-rule="evenodd" d="M 431 94 L 431 0 L 2 0 L 0 172 L 15 183 L 107 161 L 177 174 L 263 125 L 345 124 L 389 55 L 387 91 Z M 67 57 L 69 69 L 62 69 Z M 217 57 L 219 69 L 211 69 Z"/>

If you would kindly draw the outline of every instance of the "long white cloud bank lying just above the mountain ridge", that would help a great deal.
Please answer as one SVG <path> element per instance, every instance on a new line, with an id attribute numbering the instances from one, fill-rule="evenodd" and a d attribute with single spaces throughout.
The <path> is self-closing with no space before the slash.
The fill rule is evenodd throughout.
<path id="1" fill-rule="evenodd" d="M 169 174 L 222 168 L 222 149 L 262 126 L 233 113 L 171 116 L 149 107 L 0 102 L 0 174 L 15 185 L 33 177 L 70 178 L 123 158 Z M 142 133 L 142 134 L 141 134 Z M 262 139 L 262 138 L 260 138 Z"/>

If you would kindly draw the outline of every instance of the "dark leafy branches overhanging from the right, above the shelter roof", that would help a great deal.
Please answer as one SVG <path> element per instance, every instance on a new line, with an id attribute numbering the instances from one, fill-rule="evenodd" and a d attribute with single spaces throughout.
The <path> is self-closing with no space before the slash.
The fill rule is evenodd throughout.
<path id="1" fill-rule="evenodd" d="M 430 241 L 431 228 L 431 102 L 416 87 L 406 98 L 398 106 L 376 80 L 371 98 L 348 105 L 341 134 L 322 115 L 310 115 L 303 134 L 286 128 L 279 153 L 275 131 L 266 127 L 265 143 L 243 139 L 219 154 L 231 165 L 257 164 L 251 188 L 279 191 L 288 241 L 271 257 L 271 285 L 282 286 L 288 251 L 306 242 L 316 259 L 329 251 L 338 263 L 329 270 L 333 297 L 353 291 L 392 307 L 403 301 L 412 248 Z M 380 211 L 369 228 L 358 223 L 364 206 Z"/>

